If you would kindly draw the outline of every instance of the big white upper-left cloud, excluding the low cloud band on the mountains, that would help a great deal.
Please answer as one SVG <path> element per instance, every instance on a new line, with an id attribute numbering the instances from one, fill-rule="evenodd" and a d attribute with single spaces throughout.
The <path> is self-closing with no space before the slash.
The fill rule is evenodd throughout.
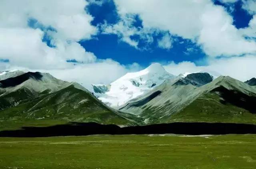
<path id="1" fill-rule="evenodd" d="M 66 60 L 76 59 L 83 63 L 96 60 L 93 53 L 86 52 L 77 43 L 88 39 L 97 32 L 92 26 L 92 16 L 84 8 L 85 0 L 2 0 L 0 2 L 0 56 L 9 59 L 13 66 L 35 68 L 64 68 L 72 63 Z M 46 32 L 32 29 L 28 21 L 33 18 L 48 30 L 52 45 L 42 41 Z"/>

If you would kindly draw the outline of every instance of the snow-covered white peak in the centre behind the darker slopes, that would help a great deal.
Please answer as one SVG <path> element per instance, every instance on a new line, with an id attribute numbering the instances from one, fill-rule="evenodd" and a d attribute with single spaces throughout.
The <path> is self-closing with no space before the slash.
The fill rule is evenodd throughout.
<path id="1" fill-rule="evenodd" d="M 92 86 L 98 99 L 111 107 L 117 107 L 175 77 L 159 63 L 153 63 L 142 71 L 127 73 L 110 85 Z"/>

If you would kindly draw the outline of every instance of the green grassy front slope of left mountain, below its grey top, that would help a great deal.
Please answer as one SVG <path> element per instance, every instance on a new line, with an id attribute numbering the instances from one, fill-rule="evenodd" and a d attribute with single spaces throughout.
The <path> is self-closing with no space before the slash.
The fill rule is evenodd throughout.
<path id="1" fill-rule="evenodd" d="M 23 95 L 26 94 L 26 92 L 23 93 Z M 0 130 L 16 129 L 21 126 L 51 126 L 70 121 L 103 124 L 129 123 L 95 97 L 74 86 L 51 94 L 40 94 L 35 98 L 23 100 L 18 106 L 6 108 L 0 112 Z"/>

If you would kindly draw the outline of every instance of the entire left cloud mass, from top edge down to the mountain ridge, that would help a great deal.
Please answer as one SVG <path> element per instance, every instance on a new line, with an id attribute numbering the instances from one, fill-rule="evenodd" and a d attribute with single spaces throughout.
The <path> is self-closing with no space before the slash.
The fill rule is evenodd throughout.
<path id="1" fill-rule="evenodd" d="M 2 0 L 0 2 L 1 70 L 49 72 L 59 79 L 76 81 L 87 88 L 91 83 L 110 83 L 137 63 L 120 65 L 111 59 L 100 60 L 78 41 L 90 39 L 98 31 L 93 17 L 84 9 L 92 0 Z M 29 22 L 33 20 L 34 25 Z M 43 41 L 48 36 L 50 45 Z M 75 61 L 68 63 L 67 61 Z"/>

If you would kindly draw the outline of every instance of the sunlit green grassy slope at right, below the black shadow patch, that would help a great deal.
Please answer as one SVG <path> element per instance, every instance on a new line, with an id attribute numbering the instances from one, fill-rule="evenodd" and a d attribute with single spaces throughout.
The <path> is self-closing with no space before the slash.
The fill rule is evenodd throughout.
<path id="1" fill-rule="evenodd" d="M 194 100 L 168 122 L 231 122 L 256 124 L 256 114 L 232 104 L 222 104 L 220 96 L 208 93 Z"/>

